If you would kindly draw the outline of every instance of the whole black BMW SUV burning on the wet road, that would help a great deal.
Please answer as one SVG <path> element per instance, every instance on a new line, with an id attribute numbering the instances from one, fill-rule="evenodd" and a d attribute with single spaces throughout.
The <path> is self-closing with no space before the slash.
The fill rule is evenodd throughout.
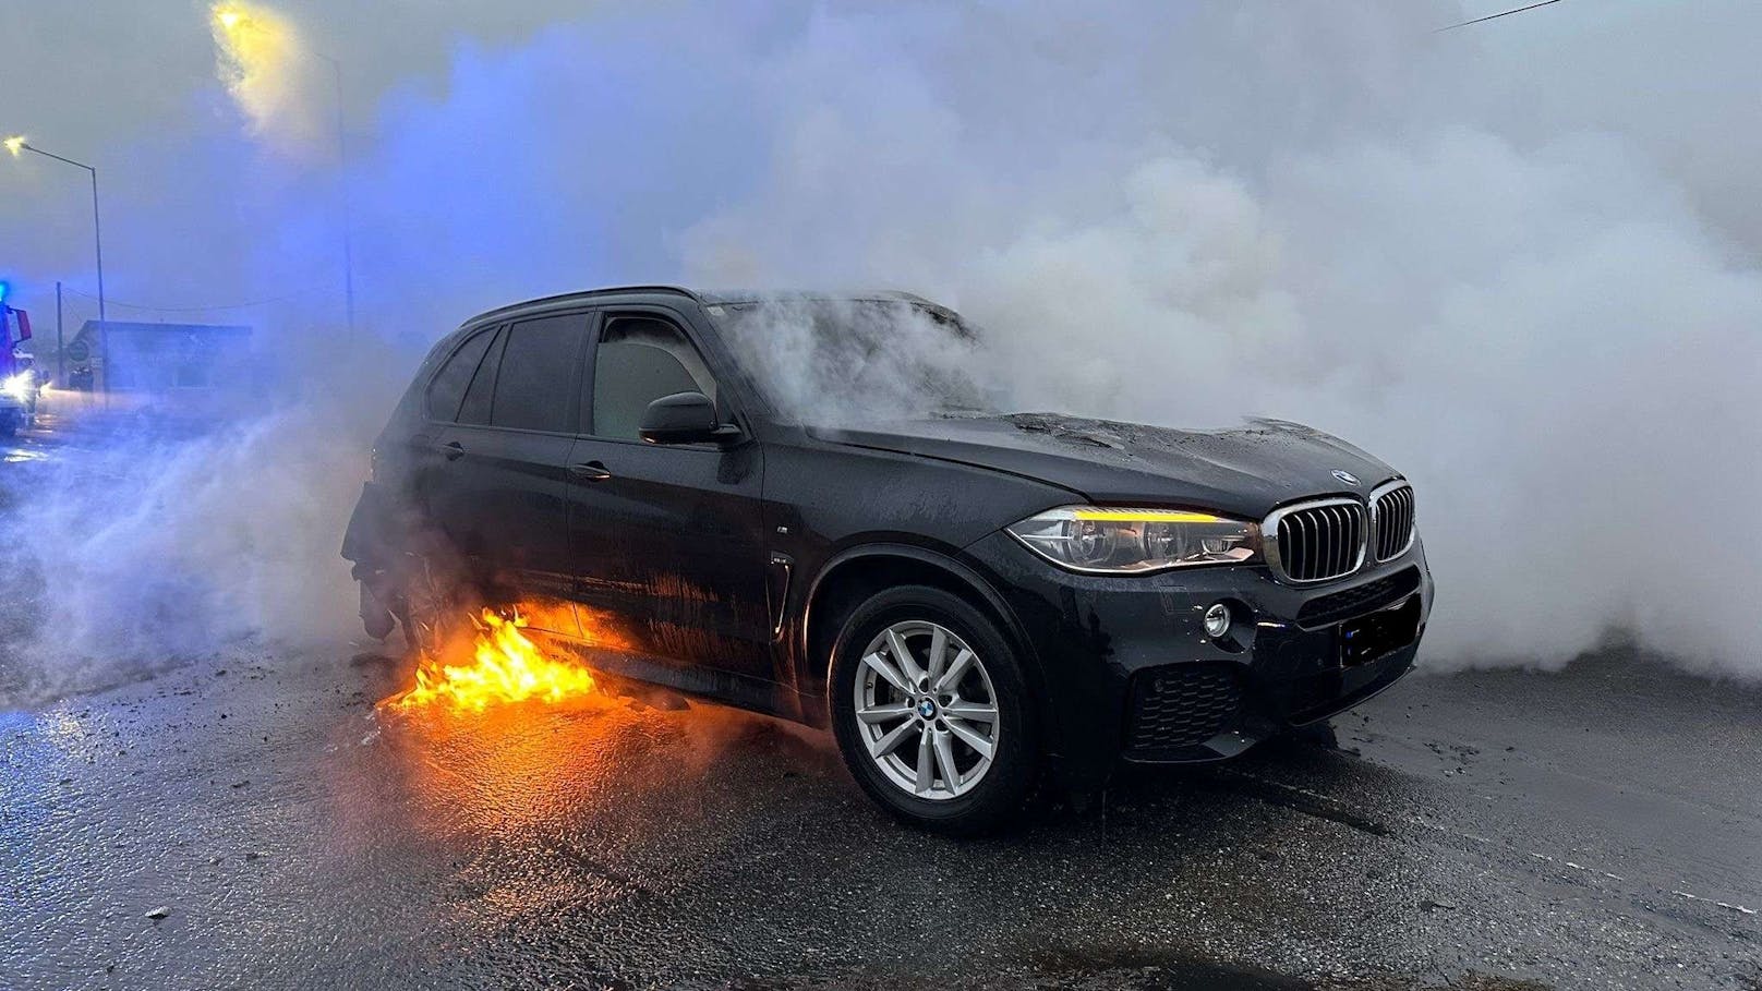
<path id="1" fill-rule="evenodd" d="M 830 726 L 869 795 L 948 831 L 1040 779 L 1237 755 L 1413 665 L 1433 584 L 1387 464 L 1284 421 L 1004 414 L 983 367 L 902 293 L 472 317 L 375 444 L 361 615 L 419 644 L 449 587 L 559 600 L 553 649 Z"/>

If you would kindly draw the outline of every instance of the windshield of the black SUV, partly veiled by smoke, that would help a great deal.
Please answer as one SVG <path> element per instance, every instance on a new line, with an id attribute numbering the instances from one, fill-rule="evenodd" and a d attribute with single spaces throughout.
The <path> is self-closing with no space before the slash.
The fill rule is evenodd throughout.
<path id="1" fill-rule="evenodd" d="M 997 413 L 978 335 L 906 300 L 770 298 L 708 307 L 774 406 L 803 423 Z"/>

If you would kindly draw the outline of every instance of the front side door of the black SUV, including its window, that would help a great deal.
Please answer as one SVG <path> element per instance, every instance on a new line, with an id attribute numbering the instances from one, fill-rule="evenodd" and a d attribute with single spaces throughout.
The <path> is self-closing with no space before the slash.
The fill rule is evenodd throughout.
<path id="1" fill-rule="evenodd" d="M 685 390 L 717 400 L 724 423 L 737 418 L 687 326 L 661 307 L 601 314 L 567 481 L 581 626 L 592 638 L 610 624 L 636 651 L 752 688 L 775 681 L 759 444 L 661 446 L 638 436 L 648 402 Z"/>

